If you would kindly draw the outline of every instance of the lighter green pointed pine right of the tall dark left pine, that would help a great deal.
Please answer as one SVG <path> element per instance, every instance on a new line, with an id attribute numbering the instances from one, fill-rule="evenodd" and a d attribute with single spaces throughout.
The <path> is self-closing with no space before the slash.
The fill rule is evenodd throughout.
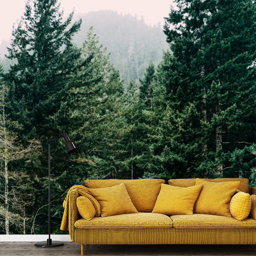
<path id="1" fill-rule="evenodd" d="M 69 172 L 72 170 L 79 184 L 86 178 L 119 177 L 123 169 L 119 142 L 124 127 L 120 111 L 124 88 L 106 51 L 90 28 L 83 43 L 82 59 L 92 56 L 91 61 L 74 77 L 75 86 L 67 91 L 69 100 L 63 102 L 54 116 L 57 125 L 68 116 L 67 129 L 77 127 L 72 139 L 80 150 L 72 156 Z M 67 189 L 74 180 L 65 185 Z"/>

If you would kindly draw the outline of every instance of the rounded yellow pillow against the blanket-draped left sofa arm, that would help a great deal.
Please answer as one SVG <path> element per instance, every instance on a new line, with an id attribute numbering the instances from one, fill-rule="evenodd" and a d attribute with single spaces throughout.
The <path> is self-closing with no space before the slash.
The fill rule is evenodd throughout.
<path id="1" fill-rule="evenodd" d="M 76 198 L 76 205 L 79 214 L 85 220 L 92 220 L 96 215 L 96 210 L 91 200 L 86 196 L 78 196 Z"/>

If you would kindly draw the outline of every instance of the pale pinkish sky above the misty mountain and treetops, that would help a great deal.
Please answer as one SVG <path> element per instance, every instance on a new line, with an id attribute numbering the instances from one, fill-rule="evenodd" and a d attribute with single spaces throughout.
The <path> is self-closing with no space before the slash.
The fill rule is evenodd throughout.
<path id="1" fill-rule="evenodd" d="M 12 26 L 17 27 L 20 17 L 25 10 L 26 0 L 0 0 L 0 44 L 3 39 L 9 39 Z M 64 16 L 72 12 L 86 13 L 98 10 L 113 10 L 118 13 L 137 14 L 138 18 L 144 17 L 147 24 L 164 24 L 164 17 L 170 12 L 173 0 L 59 0 L 60 9 L 64 10 Z"/>

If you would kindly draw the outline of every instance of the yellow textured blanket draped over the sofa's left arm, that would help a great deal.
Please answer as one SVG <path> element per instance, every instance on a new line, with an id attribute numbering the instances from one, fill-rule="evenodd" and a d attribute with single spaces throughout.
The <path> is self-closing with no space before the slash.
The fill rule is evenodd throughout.
<path id="1" fill-rule="evenodd" d="M 83 185 L 75 185 L 75 186 L 73 186 L 72 188 L 70 188 L 68 190 L 68 194 L 65 197 L 65 200 L 63 202 L 64 213 L 63 213 L 63 217 L 62 217 L 62 221 L 61 221 L 61 226 L 60 226 L 61 230 L 68 230 L 68 199 L 69 199 L 69 196 L 70 196 L 71 192 L 74 191 L 74 190 L 76 190 L 78 192 L 79 196 L 86 196 L 86 197 L 88 197 L 91 200 L 91 202 L 94 205 L 94 207 L 95 207 L 96 216 L 100 215 L 99 203 L 97 202 L 97 200 L 95 198 L 92 197 L 92 195 L 90 193 L 90 189 L 86 188 Z"/>

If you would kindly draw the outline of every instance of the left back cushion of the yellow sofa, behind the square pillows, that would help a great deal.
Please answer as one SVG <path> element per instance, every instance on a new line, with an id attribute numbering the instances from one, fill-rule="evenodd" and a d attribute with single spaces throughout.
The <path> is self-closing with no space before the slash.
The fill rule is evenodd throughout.
<path id="1" fill-rule="evenodd" d="M 108 188 L 124 183 L 133 205 L 138 212 L 152 212 L 156 198 L 160 192 L 160 179 L 138 179 L 138 180 L 85 180 L 87 188 Z"/>

